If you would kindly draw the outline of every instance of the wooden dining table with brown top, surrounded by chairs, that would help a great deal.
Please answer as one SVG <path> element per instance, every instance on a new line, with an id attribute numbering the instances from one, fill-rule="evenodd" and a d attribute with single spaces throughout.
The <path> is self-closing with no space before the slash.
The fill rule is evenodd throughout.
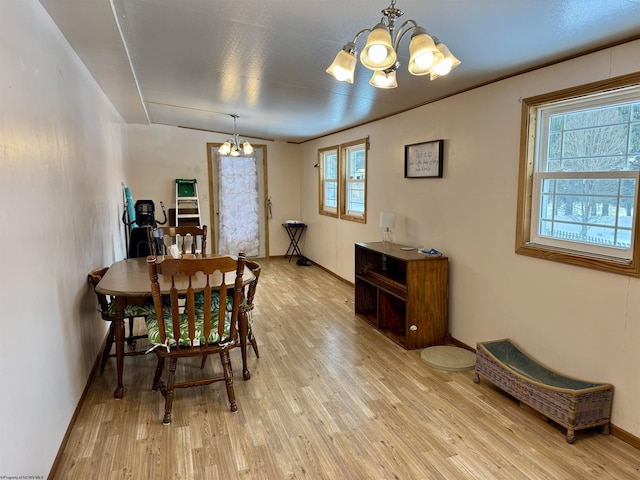
<path id="1" fill-rule="evenodd" d="M 206 256 L 206 255 L 205 255 Z M 162 257 L 158 257 L 158 261 L 161 261 Z M 220 275 L 217 273 L 216 275 Z M 160 291 L 162 293 L 169 293 L 171 283 L 169 279 L 163 278 L 159 275 Z M 233 287 L 236 279 L 235 272 L 227 272 L 225 275 L 225 284 L 229 287 Z M 213 282 L 217 280 L 220 283 L 221 279 L 213 278 Z M 244 269 L 242 276 L 243 285 L 247 285 L 251 281 L 255 280 L 255 276 L 249 268 Z M 197 281 L 197 280 L 196 280 Z M 205 278 L 202 276 L 202 289 L 205 286 Z M 180 286 L 177 285 L 178 289 Z M 194 285 L 197 289 L 200 287 L 197 283 Z M 186 283 L 185 283 L 186 289 Z M 114 337 L 116 344 L 116 364 L 118 374 L 118 385 L 116 386 L 113 396 L 115 398 L 122 398 L 124 394 L 124 387 L 122 383 L 123 366 L 124 366 L 124 309 L 129 303 L 140 303 L 141 300 L 151 298 L 151 280 L 149 279 L 149 268 L 147 266 L 146 258 L 129 258 L 126 260 L 120 260 L 115 262 L 109 267 L 107 273 L 102 277 L 96 291 L 104 295 L 110 295 L 115 302 L 115 317 L 113 320 Z M 240 313 L 238 317 L 238 335 L 240 337 L 240 350 L 242 351 L 242 376 L 245 380 L 251 378 L 251 373 L 247 368 L 247 330 L 248 330 L 248 316 L 246 312 Z"/>

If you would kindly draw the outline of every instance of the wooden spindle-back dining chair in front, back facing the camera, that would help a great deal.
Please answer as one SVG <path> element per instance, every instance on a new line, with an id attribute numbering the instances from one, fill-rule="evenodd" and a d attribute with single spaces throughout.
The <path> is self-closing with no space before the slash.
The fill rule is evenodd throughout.
<path id="1" fill-rule="evenodd" d="M 150 256 L 147 265 L 154 302 L 154 310 L 147 316 L 147 330 L 149 341 L 158 356 L 152 389 L 160 389 L 165 398 L 163 423 L 171 423 L 176 388 L 219 381 L 226 384 L 231 411 L 237 411 L 229 351 L 239 345 L 238 316 L 241 309 L 245 308 L 242 302 L 244 253 L 239 253 L 237 259 L 228 255 L 180 259 L 165 257 L 160 262 Z M 235 280 L 231 282 L 234 275 Z M 163 277 L 166 285 L 171 285 L 165 299 L 160 289 L 160 277 Z M 216 290 L 218 295 L 212 295 Z M 230 311 L 224 307 L 228 296 L 232 299 Z M 182 313 L 181 300 L 184 300 Z M 223 307 L 219 308 L 219 305 Z M 213 354 L 220 356 L 221 374 L 175 381 L 179 358 Z M 169 359 L 169 373 L 164 382 L 161 377 L 166 359 Z"/>

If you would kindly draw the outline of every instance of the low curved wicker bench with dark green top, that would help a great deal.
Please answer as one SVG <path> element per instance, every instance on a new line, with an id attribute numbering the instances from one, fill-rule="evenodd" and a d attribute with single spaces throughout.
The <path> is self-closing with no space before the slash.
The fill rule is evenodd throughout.
<path id="1" fill-rule="evenodd" d="M 529 358 L 511 340 L 479 342 L 476 374 L 509 393 L 521 403 L 567 429 L 567 442 L 575 431 L 601 427 L 609 433 L 613 385 L 570 378 Z"/>

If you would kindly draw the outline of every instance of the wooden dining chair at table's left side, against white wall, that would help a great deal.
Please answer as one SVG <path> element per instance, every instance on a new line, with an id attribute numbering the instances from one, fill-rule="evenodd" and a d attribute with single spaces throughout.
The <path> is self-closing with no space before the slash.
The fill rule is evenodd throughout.
<path id="1" fill-rule="evenodd" d="M 116 315 L 115 302 L 106 295 L 96 292 L 96 286 L 98 285 L 100 280 L 102 280 L 102 277 L 104 277 L 108 270 L 109 267 L 96 268 L 95 270 L 89 272 L 88 275 L 89 284 L 93 287 L 93 291 L 98 297 L 98 311 L 100 312 L 100 316 L 104 321 L 110 322 L 107 341 L 105 343 L 104 349 L 102 350 L 102 357 L 100 359 L 100 373 L 104 372 L 104 368 L 109 357 L 115 357 L 115 354 L 111 353 L 111 347 L 113 346 L 113 342 L 115 339 L 115 332 L 113 328 L 113 321 L 115 320 Z M 129 301 L 130 303 L 125 307 L 124 310 L 124 318 L 129 320 L 129 332 L 125 340 L 131 347 L 131 350 L 125 352 L 124 354 L 126 356 L 141 355 L 144 354 L 145 351 L 137 351 L 136 342 L 141 338 L 147 338 L 147 335 L 134 335 L 134 319 L 138 317 L 146 317 L 152 309 L 152 304 L 148 299 L 145 299 L 144 297 L 131 298 Z"/>

